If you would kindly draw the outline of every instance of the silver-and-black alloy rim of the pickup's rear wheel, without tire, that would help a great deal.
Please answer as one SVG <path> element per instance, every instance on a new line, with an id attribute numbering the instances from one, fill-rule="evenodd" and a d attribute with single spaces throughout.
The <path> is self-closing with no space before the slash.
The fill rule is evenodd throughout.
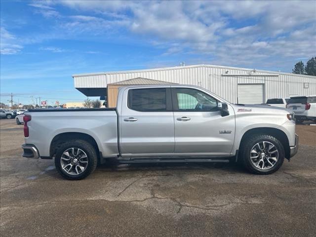
<path id="1" fill-rule="evenodd" d="M 64 151 L 60 158 L 61 168 L 70 175 L 81 174 L 88 166 L 88 157 L 84 151 L 72 147 Z"/>

